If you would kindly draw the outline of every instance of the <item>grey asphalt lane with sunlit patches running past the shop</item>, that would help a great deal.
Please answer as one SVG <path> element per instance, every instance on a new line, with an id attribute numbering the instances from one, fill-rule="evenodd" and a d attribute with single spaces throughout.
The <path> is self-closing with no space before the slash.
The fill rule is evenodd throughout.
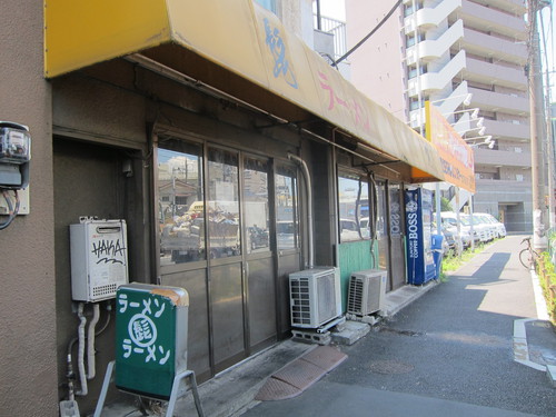
<path id="1" fill-rule="evenodd" d="M 245 417 L 556 416 L 546 374 L 514 361 L 514 320 L 535 318 L 519 236 L 469 264 L 353 346 L 302 395 Z"/>

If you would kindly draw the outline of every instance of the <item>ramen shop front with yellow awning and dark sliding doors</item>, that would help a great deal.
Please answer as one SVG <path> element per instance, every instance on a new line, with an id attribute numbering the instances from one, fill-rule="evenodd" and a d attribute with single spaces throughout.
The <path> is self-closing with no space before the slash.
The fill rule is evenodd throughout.
<path id="1" fill-rule="evenodd" d="M 405 285 L 401 190 L 443 179 L 440 162 L 299 41 L 311 2 L 288 3 L 289 29 L 250 0 L 6 2 L 0 119 L 28 126 L 32 151 L 19 215 L 0 211 L 0 409 L 95 408 L 116 305 L 73 299 L 83 217 L 126 220 L 130 281 L 188 291 L 200 381 L 290 337 L 292 271 L 336 267 L 344 311 L 351 271 Z"/>

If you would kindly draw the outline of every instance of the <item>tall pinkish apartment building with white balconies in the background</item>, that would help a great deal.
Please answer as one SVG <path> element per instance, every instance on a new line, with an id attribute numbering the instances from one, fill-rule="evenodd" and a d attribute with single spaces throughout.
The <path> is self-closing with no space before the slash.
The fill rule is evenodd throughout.
<path id="1" fill-rule="evenodd" d="M 348 47 L 390 8 L 346 0 Z M 350 57 L 351 82 L 414 129 L 424 132 L 430 100 L 477 138 L 469 143 L 483 143 L 473 146 L 473 208 L 510 231 L 532 230 L 525 13 L 520 0 L 405 0 Z"/>

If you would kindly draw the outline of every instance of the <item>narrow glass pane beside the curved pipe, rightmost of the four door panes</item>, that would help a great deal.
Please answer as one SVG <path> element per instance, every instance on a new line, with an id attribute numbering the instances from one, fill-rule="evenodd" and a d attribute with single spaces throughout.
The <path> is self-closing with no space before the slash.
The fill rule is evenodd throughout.
<path id="1" fill-rule="evenodd" d="M 279 250 L 299 247 L 297 181 L 292 169 L 280 167 L 275 177 L 276 236 Z"/>

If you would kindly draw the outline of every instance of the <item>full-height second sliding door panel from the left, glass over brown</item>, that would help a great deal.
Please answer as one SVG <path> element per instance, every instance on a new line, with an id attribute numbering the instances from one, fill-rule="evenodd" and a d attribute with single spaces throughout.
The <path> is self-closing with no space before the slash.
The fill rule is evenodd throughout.
<path id="1" fill-rule="evenodd" d="M 207 158 L 209 302 L 215 370 L 246 357 L 239 153 L 209 148 Z"/>

